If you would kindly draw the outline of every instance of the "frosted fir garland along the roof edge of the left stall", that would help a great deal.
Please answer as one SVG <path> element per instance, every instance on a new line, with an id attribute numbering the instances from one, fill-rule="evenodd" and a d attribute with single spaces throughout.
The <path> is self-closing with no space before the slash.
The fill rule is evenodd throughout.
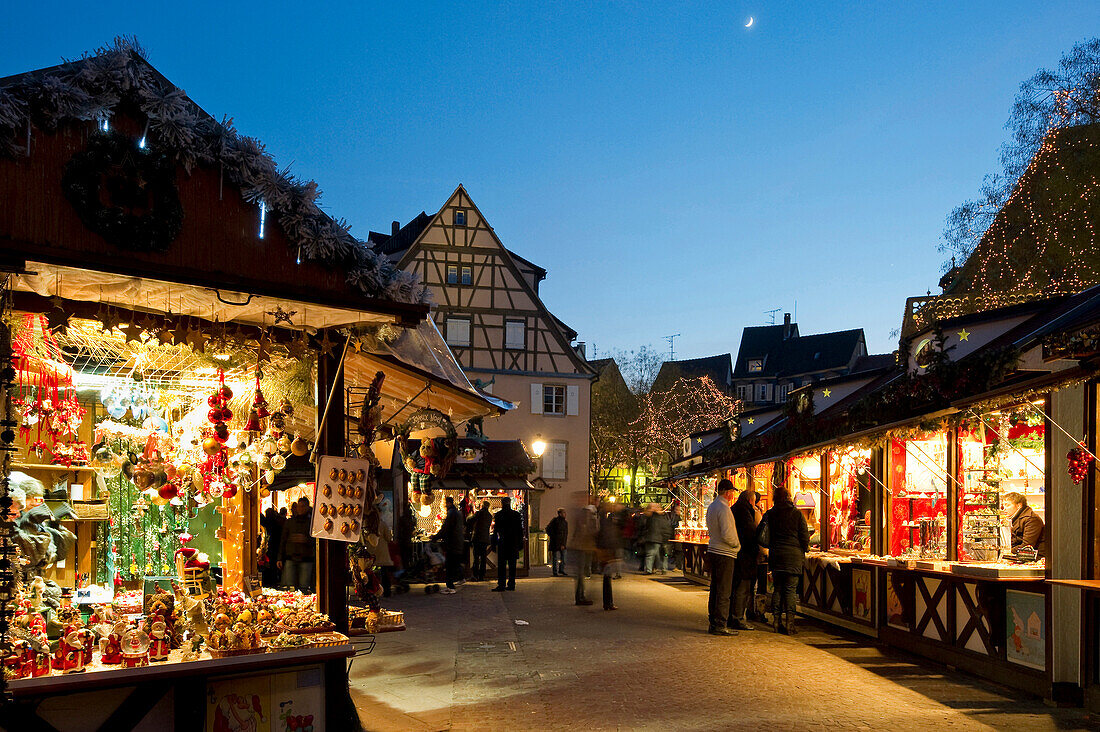
<path id="1" fill-rule="evenodd" d="M 132 39 L 118 37 L 78 62 L 25 74 L 0 88 L 0 156 L 30 154 L 32 127 L 54 132 L 63 123 L 108 118 L 123 103 L 147 117 L 150 148 L 188 173 L 216 167 L 246 201 L 263 201 L 304 260 L 345 271 L 348 284 L 366 297 L 428 302 L 417 275 L 398 270 L 353 237 L 346 221 L 320 209 L 316 183 L 279 170 L 263 143 L 238 133 L 231 119 L 206 116 L 157 74 Z"/>

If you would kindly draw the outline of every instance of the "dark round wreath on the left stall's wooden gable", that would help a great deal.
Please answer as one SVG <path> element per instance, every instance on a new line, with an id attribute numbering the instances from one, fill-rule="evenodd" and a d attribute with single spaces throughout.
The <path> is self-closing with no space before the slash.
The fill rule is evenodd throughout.
<path id="1" fill-rule="evenodd" d="M 94 134 L 62 189 L 86 227 L 122 249 L 163 252 L 184 225 L 175 163 L 120 132 Z"/>

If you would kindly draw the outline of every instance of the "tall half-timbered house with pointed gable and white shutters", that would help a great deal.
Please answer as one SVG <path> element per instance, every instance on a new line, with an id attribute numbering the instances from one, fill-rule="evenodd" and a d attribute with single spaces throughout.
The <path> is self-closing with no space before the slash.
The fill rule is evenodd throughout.
<path id="1" fill-rule="evenodd" d="M 461 185 L 436 214 L 369 241 L 431 288 L 432 315 L 471 381 L 520 404 L 487 436 L 544 444 L 539 470 L 551 489 L 531 502 L 540 527 L 571 491 L 587 490 L 595 378 L 576 332 L 539 298 L 547 271 L 506 248 Z"/>

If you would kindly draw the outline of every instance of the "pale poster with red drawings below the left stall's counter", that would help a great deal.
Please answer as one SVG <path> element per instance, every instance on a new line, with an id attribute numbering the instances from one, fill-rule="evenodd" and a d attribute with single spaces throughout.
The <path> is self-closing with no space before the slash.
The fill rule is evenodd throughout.
<path id="1" fill-rule="evenodd" d="M 206 732 L 321 732 L 324 669 L 237 676 L 207 684 Z"/>

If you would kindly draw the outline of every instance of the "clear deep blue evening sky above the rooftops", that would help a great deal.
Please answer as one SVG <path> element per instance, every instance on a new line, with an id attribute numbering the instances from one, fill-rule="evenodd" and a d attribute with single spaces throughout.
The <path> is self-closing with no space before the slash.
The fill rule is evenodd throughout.
<path id="1" fill-rule="evenodd" d="M 0 76 L 135 34 L 360 238 L 462 183 L 590 357 L 795 302 L 892 350 L 1019 84 L 1100 34 L 1096 0 L 157 4 L 14 3 Z"/>

